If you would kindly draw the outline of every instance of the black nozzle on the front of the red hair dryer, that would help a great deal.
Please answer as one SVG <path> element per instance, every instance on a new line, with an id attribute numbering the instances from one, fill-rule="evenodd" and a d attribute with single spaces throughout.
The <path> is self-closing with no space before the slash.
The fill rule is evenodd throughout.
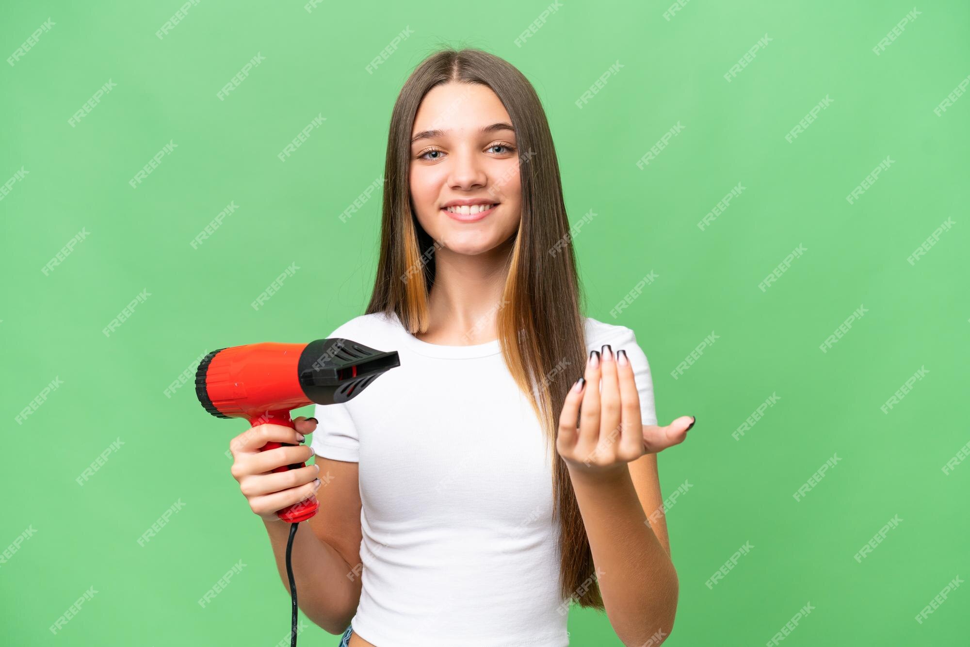
<path id="1" fill-rule="evenodd" d="M 401 366 L 396 350 L 382 352 L 339 337 L 307 343 L 300 355 L 300 385 L 317 404 L 354 398 L 385 372 Z"/>

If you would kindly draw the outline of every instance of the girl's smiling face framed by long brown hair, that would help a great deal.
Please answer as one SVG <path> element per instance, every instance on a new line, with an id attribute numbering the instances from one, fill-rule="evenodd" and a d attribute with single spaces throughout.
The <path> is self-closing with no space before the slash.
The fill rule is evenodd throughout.
<path id="1" fill-rule="evenodd" d="M 519 151 L 511 126 L 498 95 L 480 83 L 437 85 L 418 107 L 411 132 L 412 207 L 446 249 L 480 254 L 518 231 Z M 456 202 L 464 212 L 449 213 Z M 495 207 L 475 214 L 489 205 Z"/>

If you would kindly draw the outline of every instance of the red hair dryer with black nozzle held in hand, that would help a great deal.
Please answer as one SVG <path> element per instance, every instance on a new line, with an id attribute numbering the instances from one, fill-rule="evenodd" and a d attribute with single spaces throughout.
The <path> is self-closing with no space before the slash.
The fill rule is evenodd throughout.
<path id="1" fill-rule="evenodd" d="M 307 404 L 345 403 L 378 376 L 401 366 L 398 352 L 382 352 L 342 338 L 309 343 L 250 343 L 213 350 L 199 363 L 195 393 L 217 418 L 245 418 L 262 424 L 296 428 L 290 410 Z M 267 442 L 260 451 L 283 444 Z M 274 471 L 303 468 L 295 463 Z M 283 521 L 299 523 L 316 514 L 310 497 L 276 512 Z"/>

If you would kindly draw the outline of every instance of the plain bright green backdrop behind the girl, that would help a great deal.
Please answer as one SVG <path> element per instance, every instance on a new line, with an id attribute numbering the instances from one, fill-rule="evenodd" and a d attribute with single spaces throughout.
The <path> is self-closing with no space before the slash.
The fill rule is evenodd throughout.
<path id="1" fill-rule="evenodd" d="M 970 587 L 917 616 L 970 574 L 966 3 L 205 0 L 163 32 L 179 5 L 0 21 L 2 642 L 285 644 L 289 599 L 229 473 L 245 424 L 178 380 L 363 311 L 391 108 L 439 43 L 533 81 L 588 314 L 635 331 L 663 423 L 697 416 L 660 461 L 680 491 L 667 644 L 763 645 L 789 622 L 786 645 L 965 640 Z M 305 624 L 300 644 L 337 643 Z M 569 631 L 620 644 L 576 607 Z"/>

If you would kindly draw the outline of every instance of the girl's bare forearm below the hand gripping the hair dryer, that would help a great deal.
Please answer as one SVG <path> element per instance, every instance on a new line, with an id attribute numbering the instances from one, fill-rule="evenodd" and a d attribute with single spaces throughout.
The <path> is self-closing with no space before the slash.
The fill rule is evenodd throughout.
<path id="1" fill-rule="evenodd" d="M 279 571 L 283 587 L 289 593 L 286 542 L 289 539 L 290 524 L 280 520 L 263 521 L 273 545 L 276 570 Z M 307 618 L 325 631 L 344 631 L 360 600 L 360 577 L 351 572 L 333 546 L 313 534 L 306 522 L 300 524 L 300 529 L 293 537 L 290 564 L 293 566 L 293 581 L 297 587 L 297 603 L 307 614 Z"/>

